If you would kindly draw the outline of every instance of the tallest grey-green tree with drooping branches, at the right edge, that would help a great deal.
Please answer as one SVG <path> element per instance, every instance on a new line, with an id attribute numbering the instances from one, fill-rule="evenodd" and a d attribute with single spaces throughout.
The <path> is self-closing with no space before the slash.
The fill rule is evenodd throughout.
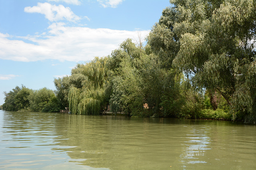
<path id="1" fill-rule="evenodd" d="M 245 122 L 256 122 L 256 1 L 170 3 L 148 36 L 152 51 L 194 86 L 220 94 L 233 120 L 239 113 Z"/>

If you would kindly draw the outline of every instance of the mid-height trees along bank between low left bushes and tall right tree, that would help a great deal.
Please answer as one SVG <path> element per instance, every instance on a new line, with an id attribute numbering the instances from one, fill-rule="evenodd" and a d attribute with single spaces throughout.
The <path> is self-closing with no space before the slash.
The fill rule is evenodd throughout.
<path id="1" fill-rule="evenodd" d="M 194 88 L 182 72 L 164 68 L 149 45 L 142 48 L 131 39 L 54 83 L 72 114 L 100 114 L 110 105 L 113 113 L 139 117 L 232 118 L 220 94 Z"/>

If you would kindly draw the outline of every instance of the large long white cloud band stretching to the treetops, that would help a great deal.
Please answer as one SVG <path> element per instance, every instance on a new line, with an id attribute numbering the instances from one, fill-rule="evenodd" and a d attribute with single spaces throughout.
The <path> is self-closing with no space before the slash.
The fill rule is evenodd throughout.
<path id="1" fill-rule="evenodd" d="M 12 61 L 90 61 L 93 57 L 111 54 L 127 38 L 136 38 L 137 31 L 65 27 L 64 23 L 52 23 L 44 35 L 18 37 L 32 41 L 10 39 L 0 33 L 0 59 Z M 140 31 L 142 39 L 150 30 Z M 14 37 L 15 38 L 15 37 Z"/>

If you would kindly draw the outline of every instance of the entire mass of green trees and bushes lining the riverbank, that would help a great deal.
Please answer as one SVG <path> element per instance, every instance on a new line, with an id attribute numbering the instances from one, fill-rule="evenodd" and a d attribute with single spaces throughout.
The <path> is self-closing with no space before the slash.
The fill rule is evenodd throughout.
<path id="1" fill-rule="evenodd" d="M 140 117 L 256 123 L 256 2 L 170 3 L 146 46 L 126 39 L 111 55 L 77 64 L 71 76 L 54 80 L 56 96 L 16 87 L 3 109 L 99 114 L 110 105 L 113 113 Z"/>

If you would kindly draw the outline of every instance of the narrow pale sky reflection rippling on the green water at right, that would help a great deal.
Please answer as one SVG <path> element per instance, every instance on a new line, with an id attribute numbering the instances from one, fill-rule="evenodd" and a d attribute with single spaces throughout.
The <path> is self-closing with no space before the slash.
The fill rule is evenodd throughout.
<path id="1" fill-rule="evenodd" d="M 206 150 L 209 150 L 210 137 L 208 136 L 207 127 L 191 127 L 190 134 L 186 134 L 184 142 L 184 152 L 180 155 L 181 162 L 184 164 L 202 164 L 207 163 L 204 159 Z"/>

